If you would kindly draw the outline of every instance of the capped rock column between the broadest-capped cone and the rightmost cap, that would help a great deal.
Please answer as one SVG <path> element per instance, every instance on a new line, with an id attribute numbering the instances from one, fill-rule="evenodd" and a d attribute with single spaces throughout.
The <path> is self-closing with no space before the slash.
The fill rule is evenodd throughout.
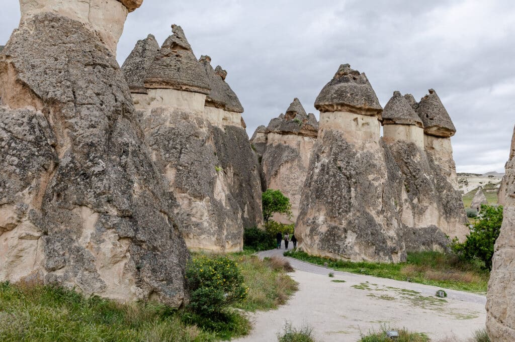
<path id="1" fill-rule="evenodd" d="M 453 204 L 461 204 L 459 194 L 435 172 L 438 169 L 424 151 L 422 122 L 399 92 L 386 104 L 383 124 L 383 139 L 404 177 L 400 213 L 408 227 L 403 235 L 406 249 L 446 248 L 449 241 L 445 235 L 465 238 L 464 209 Z"/>

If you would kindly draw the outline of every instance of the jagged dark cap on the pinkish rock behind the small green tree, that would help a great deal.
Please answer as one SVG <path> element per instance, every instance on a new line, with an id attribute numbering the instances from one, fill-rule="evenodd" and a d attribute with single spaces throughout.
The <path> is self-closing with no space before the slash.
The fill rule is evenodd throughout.
<path id="1" fill-rule="evenodd" d="M 271 119 L 267 132 L 279 134 L 296 134 L 309 137 L 318 136 L 318 121 L 314 114 L 306 114 L 298 98 L 288 107 L 286 115 Z"/>

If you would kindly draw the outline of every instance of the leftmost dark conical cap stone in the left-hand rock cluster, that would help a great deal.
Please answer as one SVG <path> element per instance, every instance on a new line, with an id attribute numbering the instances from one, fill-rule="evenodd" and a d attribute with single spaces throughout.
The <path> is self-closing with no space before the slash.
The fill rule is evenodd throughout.
<path id="1" fill-rule="evenodd" d="M 131 93 L 147 94 L 147 88 L 145 88 L 143 80 L 158 53 L 159 44 L 152 34 L 136 43 L 124 65 L 122 65 L 122 71 Z"/>

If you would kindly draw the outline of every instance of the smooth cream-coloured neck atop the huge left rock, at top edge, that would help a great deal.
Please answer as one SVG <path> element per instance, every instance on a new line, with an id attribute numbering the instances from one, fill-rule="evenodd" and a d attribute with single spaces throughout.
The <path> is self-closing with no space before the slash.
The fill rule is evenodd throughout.
<path id="1" fill-rule="evenodd" d="M 96 31 L 116 56 L 116 45 L 124 30 L 129 8 L 134 9 L 141 3 L 143 0 L 20 0 L 21 22 L 38 13 L 66 16 Z"/>

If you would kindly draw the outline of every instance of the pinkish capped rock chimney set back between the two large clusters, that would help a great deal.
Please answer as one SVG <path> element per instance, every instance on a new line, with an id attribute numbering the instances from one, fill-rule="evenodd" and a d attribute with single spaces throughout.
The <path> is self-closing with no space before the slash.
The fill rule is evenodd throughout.
<path id="1" fill-rule="evenodd" d="M 295 223 L 311 152 L 318 136 L 317 119 L 311 113 L 306 114 L 299 99 L 295 98 L 286 115 L 281 114 L 270 121 L 265 129 L 265 139 L 258 131 L 263 129 L 256 130 L 251 142 L 258 146 L 256 150 L 263 149 L 261 166 L 265 188 L 281 190 L 290 199 L 293 212 L 291 221 L 278 214 L 273 220 Z"/>

